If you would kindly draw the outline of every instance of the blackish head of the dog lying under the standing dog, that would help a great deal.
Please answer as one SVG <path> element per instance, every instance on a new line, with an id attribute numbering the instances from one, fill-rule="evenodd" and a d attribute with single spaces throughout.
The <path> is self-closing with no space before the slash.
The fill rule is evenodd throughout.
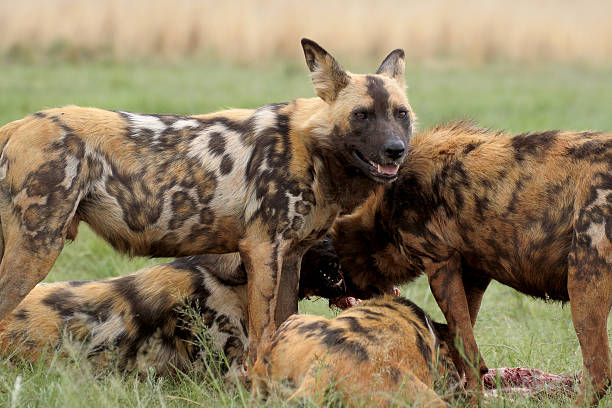
<path id="1" fill-rule="evenodd" d="M 330 237 L 316 245 L 316 250 L 307 251 L 302 258 L 300 272 L 300 299 L 320 296 L 335 299 L 346 293 L 340 262 Z"/>

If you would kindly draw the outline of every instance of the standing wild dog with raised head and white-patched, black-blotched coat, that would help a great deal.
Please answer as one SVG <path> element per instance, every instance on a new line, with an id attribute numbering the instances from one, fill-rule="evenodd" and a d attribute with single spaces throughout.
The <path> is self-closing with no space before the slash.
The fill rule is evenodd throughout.
<path id="1" fill-rule="evenodd" d="M 0 318 L 83 220 L 133 255 L 239 251 L 254 357 L 297 311 L 303 253 L 395 179 L 412 133 L 402 50 L 356 75 L 302 46 L 318 98 L 201 116 L 69 106 L 0 128 Z"/>

